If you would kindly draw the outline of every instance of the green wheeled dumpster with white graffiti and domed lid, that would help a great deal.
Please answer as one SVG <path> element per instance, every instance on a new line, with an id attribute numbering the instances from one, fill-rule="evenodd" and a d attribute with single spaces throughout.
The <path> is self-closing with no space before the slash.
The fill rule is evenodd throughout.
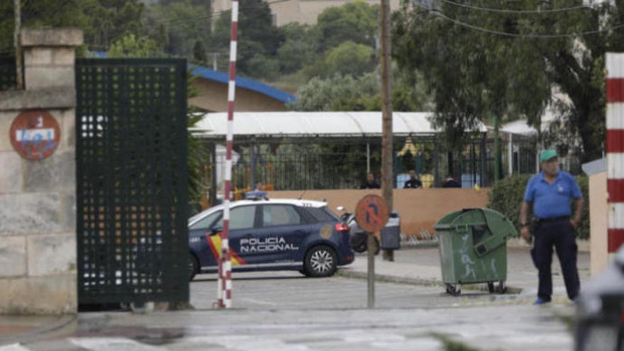
<path id="1" fill-rule="evenodd" d="M 440 218 L 433 228 L 447 293 L 459 295 L 462 284 L 481 283 L 490 293 L 506 291 L 507 238 L 516 235 L 511 221 L 489 208 L 467 208 Z"/>

